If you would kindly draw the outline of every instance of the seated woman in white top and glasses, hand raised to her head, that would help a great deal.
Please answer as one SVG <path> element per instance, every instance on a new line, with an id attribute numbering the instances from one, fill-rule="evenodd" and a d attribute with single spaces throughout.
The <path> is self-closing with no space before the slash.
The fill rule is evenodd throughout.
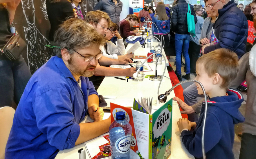
<path id="1" fill-rule="evenodd" d="M 110 39 L 116 35 L 117 37 L 117 45 L 115 45 Z M 122 59 L 124 57 L 132 58 L 134 54 L 126 54 L 125 55 L 125 45 L 123 38 L 118 33 L 118 25 L 110 21 L 109 27 L 106 32 L 106 43 L 104 46 L 100 46 L 100 50 L 103 52 L 103 56 L 111 58 L 111 59 Z M 124 56 L 122 56 L 124 55 Z"/>

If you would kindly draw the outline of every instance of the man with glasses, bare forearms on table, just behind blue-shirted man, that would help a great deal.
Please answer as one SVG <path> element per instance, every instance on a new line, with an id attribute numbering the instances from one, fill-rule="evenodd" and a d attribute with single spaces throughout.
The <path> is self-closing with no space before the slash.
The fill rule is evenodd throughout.
<path id="1" fill-rule="evenodd" d="M 110 18 L 106 12 L 102 12 L 100 10 L 88 12 L 86 14 L 86 21 L 91 24 L 98 33 L 104 37 L 106 36 L 105 34 L 110 23 Z M 136 68 L 122 69 L 105 67 L 115 64 L 127 64 L 128 62 L 133 63 L 132 60 L 127 57 L 122 59 L 110 59 L 102 56 L 99 59 L 98 66 L 95 68 L 94 75 L 89 77 L 89 80 L 93 82 L 93 85 L 97 90 L 105 76 L 132 76 L 136 72 Z"/>

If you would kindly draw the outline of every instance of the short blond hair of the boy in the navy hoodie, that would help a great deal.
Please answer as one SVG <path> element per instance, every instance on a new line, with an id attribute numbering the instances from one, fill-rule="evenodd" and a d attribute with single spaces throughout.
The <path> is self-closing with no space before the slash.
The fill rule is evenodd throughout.
<path id="1" fill-rule="evenodd" d="M 218 73 L 222 78 L 221 88 L 228 89 L 231 82 L 237 77 L 238 57 L 233 51 L 226 48 L 214 50 L 200 57 L 196 64 L 202 64 L 209 77 Z"/>

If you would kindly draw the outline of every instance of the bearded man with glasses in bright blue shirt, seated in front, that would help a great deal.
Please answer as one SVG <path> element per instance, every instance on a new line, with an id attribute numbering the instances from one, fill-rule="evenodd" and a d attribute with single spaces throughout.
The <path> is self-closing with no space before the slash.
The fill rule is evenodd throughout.
<path id="1" fill-rule="evenodd" d="M 98 93 L 88 79 L 102 56 L 104 38 L 72 18 L 56 31 L 54 43 L 56 56 L 33 74 L 21 97 L 5 158 L 55 158 L 59 150 L 109 129 L 111 120 L 102 120 Z M 87 114 L 95 122 L 80 123 Z"/>

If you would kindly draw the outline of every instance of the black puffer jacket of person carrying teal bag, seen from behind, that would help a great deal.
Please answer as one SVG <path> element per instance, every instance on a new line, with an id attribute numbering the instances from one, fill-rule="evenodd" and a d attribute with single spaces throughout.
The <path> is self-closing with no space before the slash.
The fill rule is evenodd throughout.
<path id="1" fill-rule="evenodd" d="M 194 15 L 195 24 L 197 22 L 194 8 L 189 4 L 191 15 Z M 188 3 L 185 0 L 177 0 L 177 5 L 172 7 L 172 19 L 171 19 L 171 30 L 178 34 L 189 34 L 188 33 Z"/>

